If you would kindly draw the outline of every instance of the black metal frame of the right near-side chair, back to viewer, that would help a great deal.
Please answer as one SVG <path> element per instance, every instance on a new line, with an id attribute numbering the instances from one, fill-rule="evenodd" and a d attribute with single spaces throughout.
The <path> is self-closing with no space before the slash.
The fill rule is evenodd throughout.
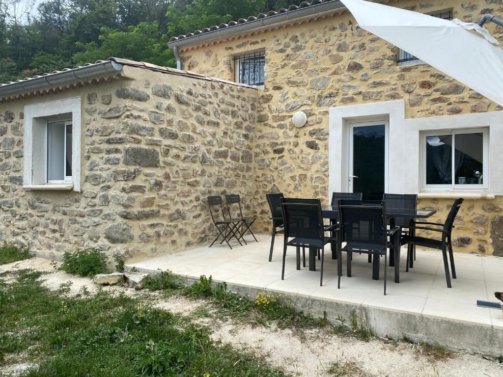
<path id="1" fill-rule="evenodd" d="M 387 229 L 387 216 L 386 216 L 386 204 L 385 202 L 381 202 L 381 205 L 378 206 L 376 205 L 375 201 L 349 201 L 349 200 L 339 200 L 338 201 L 338 207 L 339 207 L 339 237 L 338 237 L 338 261 L 337 261 L 337 274 L 338 274 L 338 285 L 337 288 L 341 288 L 341 275 L 342 275 L 342 252 L 346 251 L 348 256 L 347 256 L 347 270 L 346 273 L 348 277 L 351 277 L 351 255 L 353 252 L 359 252 L 359 253 L 365 253 L 369 255 L 384 255 L 384 295 L 386 295 L 386 270 L 387 270 L 387 251 L 388 248 L 396 248 L 398 247 L 398 250 L 400 249 L 400 232 L 399 232 L 399 227 L 394 226 L 391 229 Z M 355 240 L 348 240 L 347 238 L 347 233 L 346 233 L 346 228 L 347 225 L 345 223 L 345 216 L 346 216 L 346 209 L 355 209 L 362 211 L 363 208 L 365 209 L 374 211 L 375 213 L 378 213 L 378 211 L 382 214 L 382 240 L 383 244 L 382 247 L 377 248 L 379 244 L 372 244 L 369 243 L 369 240 L 362 239 L 362 242 L 357 242 Z M 362 211 L 362 218 L 361 220 L 365 220 L 364 217 L 364 212 Z M 379 228 L 378 228 L 379 229 Z M 349 230 L 348 230 L 349 231 Z M 388 237 L 390 237 L 390 240 L 388 241 Z M 349 241 L 349 242 L 348 242 Z M 367 242 L 366 242 L 367 241 Z M 342 247 L 342 243 L 347 242 L 345 247 Z M 351 247 L 352 245 L 355 246 L 363 246 L 361 248 L 356 248 L 356 247 Z M 373 246 L 376 248 L 374 249 Z M 399 255 L 399 253 L 398 253 Z M 395 261 L 395 263 L 398 263 L 398 261 Z"/>

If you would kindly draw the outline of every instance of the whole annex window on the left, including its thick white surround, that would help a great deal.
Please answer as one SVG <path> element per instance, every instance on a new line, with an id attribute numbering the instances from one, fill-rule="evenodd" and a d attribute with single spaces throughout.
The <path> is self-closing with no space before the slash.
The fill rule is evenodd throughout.
<path id="1" fill-rule="evenodd" d="M 80 101 L 24 107 L 25 190 L 80 191 Z"/>

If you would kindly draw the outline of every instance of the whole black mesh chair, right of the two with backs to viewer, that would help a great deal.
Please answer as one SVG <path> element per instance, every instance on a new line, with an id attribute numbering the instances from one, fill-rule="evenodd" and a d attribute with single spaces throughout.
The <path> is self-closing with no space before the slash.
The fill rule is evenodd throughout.
<path id="1" fill-rule="evenodd" d="M 353 252 L 366 253 L 374 257 L 384 255 L 384 295 L 386 295 L 387 249 L 400 248 L 399 227 L 388 230 L 386 220 L 385 202 L 376 205 L 375 201 L 339 200 L 338 288 L 341 288 L 343 251 L 348 254 L 348 276 L 351 276 Z M 388 241 L 388 236 L 392 242 Z M 343 242 L 346 242 L 344 247 L 342 247 Z"/>

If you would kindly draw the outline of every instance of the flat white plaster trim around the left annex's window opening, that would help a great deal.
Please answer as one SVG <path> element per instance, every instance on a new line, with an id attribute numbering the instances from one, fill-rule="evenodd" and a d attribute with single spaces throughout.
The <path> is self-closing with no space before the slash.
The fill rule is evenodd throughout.
<path id="1" fill-rule="evenodd" d="M 40 137 L 37 128 L 46 118 L 71 114 L 72 120 L 72 182 L 73 191 L 80 192 L 80 123 L 81 99 L 69 98 L 28 105 L 24 107 L 24 157 L 23 157 L 23 185 L 34 186 L 46 183 L 45 159 L 34 159 L 34 150 L 45 153 L 45 139 Z M 34 137 L 34 133 L 35 135 Z"/>

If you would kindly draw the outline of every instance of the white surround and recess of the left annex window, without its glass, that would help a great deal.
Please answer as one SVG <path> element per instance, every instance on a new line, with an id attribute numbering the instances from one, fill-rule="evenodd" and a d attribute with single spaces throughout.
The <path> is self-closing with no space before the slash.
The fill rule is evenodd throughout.
<path id="1" fill-rule="evenodd" d="M 48 181 L 47 122 L 68 121 L 69 119 L 72 126 L 72 176 L 65 177 L 64 181 Z M 80 192 L 80 123 L 80 97 L 24 107 L 23 189 Z"/>

